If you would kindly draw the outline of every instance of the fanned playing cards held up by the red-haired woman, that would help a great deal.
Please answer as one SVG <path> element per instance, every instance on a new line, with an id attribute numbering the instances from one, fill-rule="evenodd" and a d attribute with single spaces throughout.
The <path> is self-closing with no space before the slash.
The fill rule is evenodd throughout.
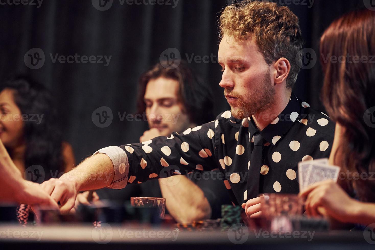
<path id="1" fill-rule="evenodd" d="M 298 177 L 300 191 L 303 191 L 314 183 L 324 180 L 337 181 L 340 173 L 340 167 L 322 163 L 327 162 L 323 160 L 324 159 L 309 162 L 299 162 Z"/>

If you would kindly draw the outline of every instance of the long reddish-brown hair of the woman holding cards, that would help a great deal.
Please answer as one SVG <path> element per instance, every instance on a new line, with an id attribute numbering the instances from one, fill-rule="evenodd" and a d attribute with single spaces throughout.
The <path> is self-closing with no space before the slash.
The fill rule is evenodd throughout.
<path id="1" fill-rule="evenodd" d="M 369 174 L 375 171 L 375 128 L 366 121 L 374 115 L 366 110 L 375 109 L 375 12 L 356 10 L 335 20 L 321 37 L 320 55 L 323 102 L 344 130 L 334 157 L 345 174 L 339 182 L 360 200 L 375 201 Z M 355 180 L 353 173 L 368 175 Z"/>

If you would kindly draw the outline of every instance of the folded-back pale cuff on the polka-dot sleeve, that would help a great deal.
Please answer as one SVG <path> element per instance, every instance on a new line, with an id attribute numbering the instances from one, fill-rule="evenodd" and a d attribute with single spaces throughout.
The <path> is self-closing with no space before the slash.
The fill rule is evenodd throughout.
<path id="1" fill-rule="evenodd" d="M 110 146 L 100 149 L 93 153 L 93 155 L 104 153 L 112 161 L 115 171 L 115 176 L 111 185 L 107 186 L 113 189 L 121 189 L 127 185 L 127 178 L 129 175 L 129 160 L 127 155 L 121 147 Z"/>

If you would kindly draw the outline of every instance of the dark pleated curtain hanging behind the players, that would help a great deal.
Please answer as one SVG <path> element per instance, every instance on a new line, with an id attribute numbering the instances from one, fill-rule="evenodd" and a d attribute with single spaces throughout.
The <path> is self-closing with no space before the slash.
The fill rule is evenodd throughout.
<path id="1" fill-rule="evenodd" d="M 7 0 L 9 1 L 9 0 Z M 30 0 L 31 1 L 31 0 Z M 142 0 L 144 1 L 144 0 Z M 36 2 L 36 1 L 35 1 Z M 179 0 L 172 5 L 123 5 L 113 0 L 99 11 L 91 0 L 44 0 L 35 5 L 0 5 L 0 79 L 28 74 L 44 83 L 56 97 L 65 140 L 72 144 L 77 162 L 109 145 L 138 142 L 147 123 L 120 121 L 118 112 L 136 112 L 137 81 L 159 61 L 160 54 L 176 48 L 181 58 L 217 55 L 217 21 L 229 0 Z M 320 35 L 342 13 L 364 7 L 363 0 L 308 0 L 285 3 L 300 18 L 305 48 L 318 54 Z M 296 3 L 296 1 L 295 1 Z M 307 5 L 303 4 L 307 3 Z M 30 69 L 24 55 L 33 48 L 45 53 L 45 63 Z M 52 63 L 50 55 L 112 56 L 105 67 L 98 63 Z M 216 58 L 216 57 L 215 57 Z M 220 88 L 217 63 L 192 62 L 213 89 L 215 113 L 228 109 Z M 320 101 L 322 73 L 319 63 L 302 70 L 295 92 L 316 108 Z M 99 128 L 92 113 L 101 106 L 113 112 L 113 122 Z"/>

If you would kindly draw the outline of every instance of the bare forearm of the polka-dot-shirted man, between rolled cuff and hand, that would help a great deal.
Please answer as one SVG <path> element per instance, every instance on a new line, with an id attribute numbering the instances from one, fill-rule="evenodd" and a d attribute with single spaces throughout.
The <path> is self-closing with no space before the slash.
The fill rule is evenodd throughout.
<path id="1" fill-rule="evenodd" d="M 113 178 L 113 163 L 103 153 L 87 158 L 77 167 L 60 177 L 61 180 L 74 182 L 77 192 L 110 186 Z"/>

